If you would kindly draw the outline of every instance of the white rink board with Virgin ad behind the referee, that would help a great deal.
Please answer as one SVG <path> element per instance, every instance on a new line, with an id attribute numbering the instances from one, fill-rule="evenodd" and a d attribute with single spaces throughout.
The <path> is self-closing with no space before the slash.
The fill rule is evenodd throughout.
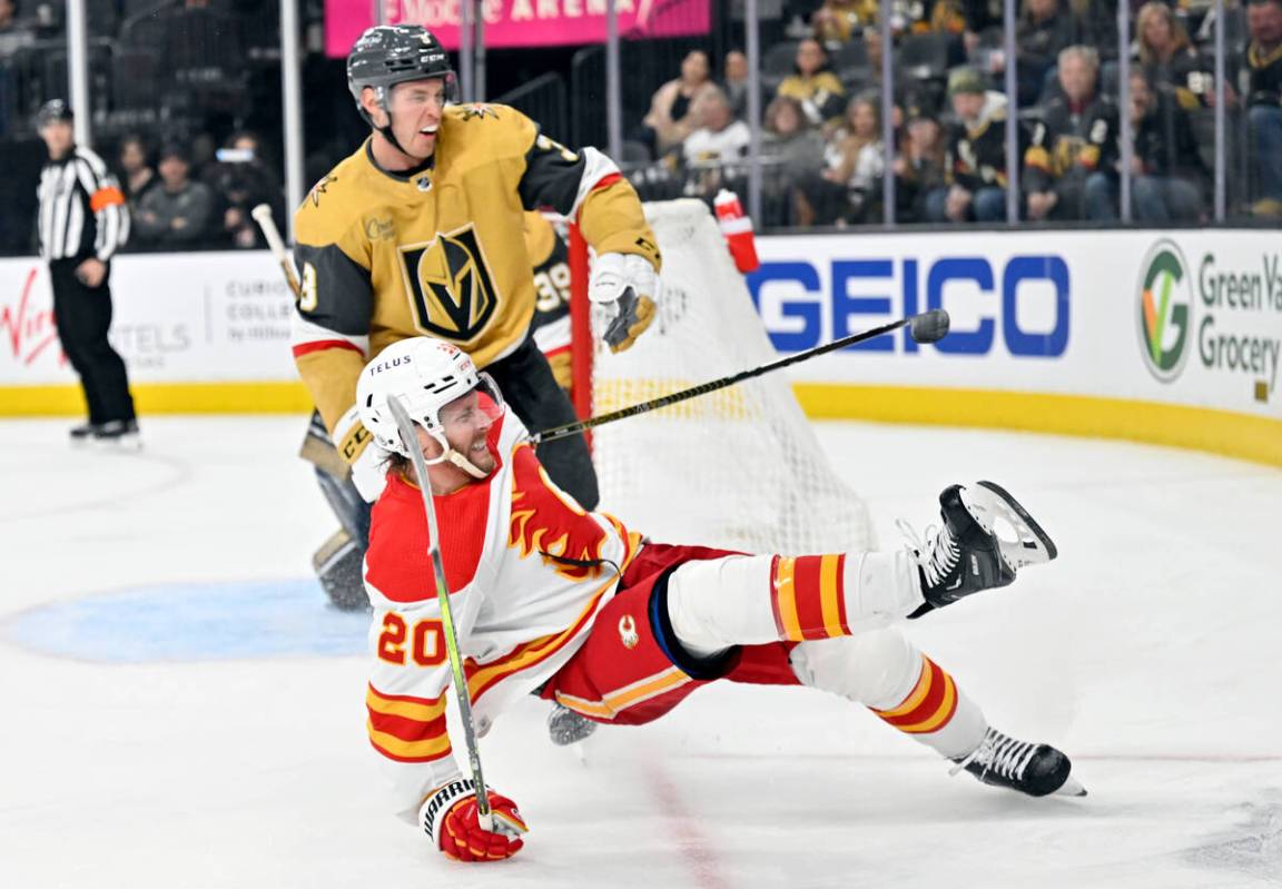
<path id="1" fill-rule="evenodd" d="M 133 379 L 294 379 L 294 310 L 265 252 L 118 256 L 110 341 Z M 0 384 L 71 383 L 49 268 L 0 260 Z"/>

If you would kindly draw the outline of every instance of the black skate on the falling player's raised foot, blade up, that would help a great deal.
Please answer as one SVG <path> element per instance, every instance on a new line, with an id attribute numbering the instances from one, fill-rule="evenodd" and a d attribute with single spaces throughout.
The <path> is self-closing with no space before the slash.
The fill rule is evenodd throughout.
<path id="1" fill-rule="evenodd" d="M 1019 502 L 992 482 L 972 488 L 954 484 L 940 494 L 944 525 L 926 543 L 915 539 L 904 523 L 900 528 L 914 542 L 926 605 L 913 617 L 942 608 L 972 593 L 1005 587 L 1026 565 L 1050 561 L 1055 544 Z M 1015 539 L 999 537 L 997 523 L 1014 528 Z"/>

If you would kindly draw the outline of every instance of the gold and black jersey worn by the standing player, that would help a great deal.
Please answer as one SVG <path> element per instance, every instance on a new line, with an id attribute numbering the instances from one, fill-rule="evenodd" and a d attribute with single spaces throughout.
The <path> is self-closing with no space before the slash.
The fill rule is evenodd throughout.
<path id="1" fill-rule="evenodd" d="M 419 169 L 379 169 L 367 140 L 313 187 L 295 214 L 294 355 L 331 432 L 367 359 L 392 342 L 438 337 L 481 368 L 522 343 L 536 305 L 523 214 L 537 208 L 577 216 L 597 252 L 659 268 L 641 202 L 614 164 L 503 105 L 446 109 Z"/>

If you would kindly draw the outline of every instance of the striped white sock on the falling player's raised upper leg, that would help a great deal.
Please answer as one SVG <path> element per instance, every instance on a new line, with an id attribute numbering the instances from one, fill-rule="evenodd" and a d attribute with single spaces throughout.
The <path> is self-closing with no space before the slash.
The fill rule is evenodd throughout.
<path id="1" fill-rule="evenodd" d="M 885 626 L 923 602 L 913 556 L 727 556 L 668 579 L 668 616 L 692 655 L 781 639 L 828 639 Z"/>

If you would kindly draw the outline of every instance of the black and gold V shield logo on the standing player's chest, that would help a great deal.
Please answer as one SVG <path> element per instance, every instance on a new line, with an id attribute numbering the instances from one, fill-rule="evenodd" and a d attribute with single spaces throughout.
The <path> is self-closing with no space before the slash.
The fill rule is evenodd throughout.
<path id="1" fill-rule="evenodd" d="M 467 342 L 485 329 L 499 298 L 472 225 L 403 246 L 400 254 L 420 332 Z"/>

